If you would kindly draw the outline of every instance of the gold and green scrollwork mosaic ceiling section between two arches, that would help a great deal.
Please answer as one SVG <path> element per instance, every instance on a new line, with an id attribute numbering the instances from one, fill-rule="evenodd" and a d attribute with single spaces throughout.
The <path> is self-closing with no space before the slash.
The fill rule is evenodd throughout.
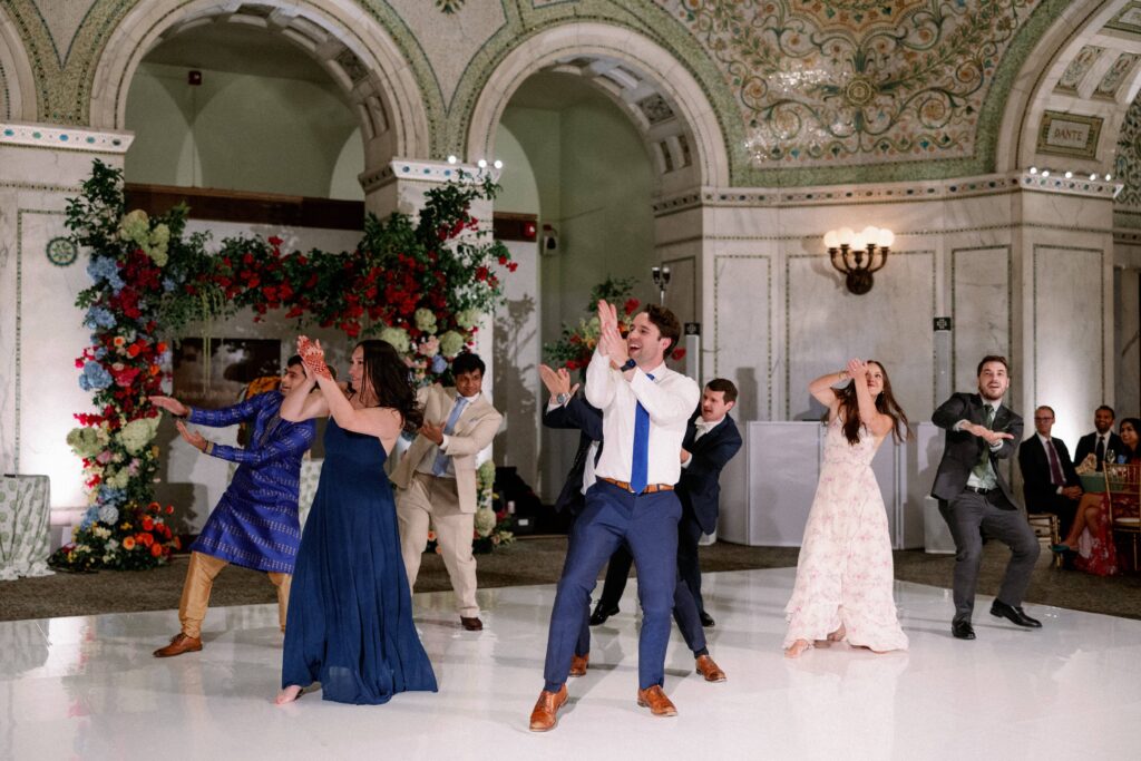
<path id="1" fill-rule="evenodd" d="M 761 167 L 965 157 L 1038 0 L 657 0 L 719 64 Z"/>

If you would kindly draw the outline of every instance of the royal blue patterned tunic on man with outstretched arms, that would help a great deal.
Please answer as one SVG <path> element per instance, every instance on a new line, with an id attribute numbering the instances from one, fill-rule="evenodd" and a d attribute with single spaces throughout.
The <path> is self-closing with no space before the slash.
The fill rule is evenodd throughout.
<path id="1" fill-rule="evenodd" d="M 254 570 L 293 573 L 301 542 L 297 518 L 301 456 L 313 444 L 317 426 L 313 420 L 282 420 L 283 398 L 281 391 L 267 391 L 221 410 L 191 410 L 189 421 L 199 426 L 253 421 L 244 450 L 213 447 L 213 456 L 238 467 L 191 550 Z"/>

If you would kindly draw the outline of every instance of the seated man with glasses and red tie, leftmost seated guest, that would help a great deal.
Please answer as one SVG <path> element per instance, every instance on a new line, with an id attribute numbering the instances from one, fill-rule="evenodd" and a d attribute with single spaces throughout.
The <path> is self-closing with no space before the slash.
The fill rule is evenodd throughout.
<path id="1" fill-rule="evenodd" d="M 1053 427 L 1052 407 L 1043 405 L 1034 411 L 1035 434 L 1018 447 L 1018 465 L 1022 470 L 1026 511 L 1058 516 L 1060 531 L 1067 535 L 1082 499 L 1082 479 L 1074 470 L 1066 443 L 1050 435 Z"/>

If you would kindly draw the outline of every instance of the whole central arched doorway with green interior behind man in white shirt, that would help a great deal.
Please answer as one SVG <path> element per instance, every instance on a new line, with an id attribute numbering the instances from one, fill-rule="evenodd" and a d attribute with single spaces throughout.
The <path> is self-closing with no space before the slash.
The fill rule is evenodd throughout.
<path id="1" fill-rule="evenodd" d="M 512 354 L 497 357 L 495 387 L 511 431 L 496 460 L 533 477 L 529 483 L 552 500 L 574 447 L 536 430 L 536 413 L 547 404 L 536 367 L 541 343 L 556 340 L 564 324 L 589 319 L 591 291 L 608 276 L 636 278 L 634 296 L 656 301 L 650 268 L 663 264 L 674 275 L 667 306 L 682 321 L 696 319 L 701 243 L 681 252 L 663 244 L 655 202 L 727 181 L 728 163 L 704 95 L 656 43 L 600 24 L 559 26 L 536 38 L 489 75 L 472 111 L 467 159 L 503 161 L 496 212 L 535 214 L 540 229 L 549 226 L 557 236 L 553 246 L 533 244 L 516 254 L 535 262 L 529 272 L 520 265 L 529 280 L 513 285 L 513 303 L 529 302 L 534 316 L 496 327 L 496 345 Z M 690 237 L 699 241 L 701 232 Z M 541 235 L 540 244 L 549 240 Z M 504 330 L 535 339 L 505 345 Z"/>

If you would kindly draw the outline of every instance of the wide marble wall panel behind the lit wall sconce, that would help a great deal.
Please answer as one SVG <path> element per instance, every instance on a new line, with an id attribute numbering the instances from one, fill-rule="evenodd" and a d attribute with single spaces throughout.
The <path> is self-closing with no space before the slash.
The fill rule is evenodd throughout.
<path id="1" fill-rule="evenodd" d="M 934 251 L 892 252 L 871 293 L 853 296 L 826 256 L 786 259 L 784 359 L 787 420 L 824 410 L 808 383 L 850 357 L 883 363 L 896 398 L 913 420 L 934 407 Z"/>

